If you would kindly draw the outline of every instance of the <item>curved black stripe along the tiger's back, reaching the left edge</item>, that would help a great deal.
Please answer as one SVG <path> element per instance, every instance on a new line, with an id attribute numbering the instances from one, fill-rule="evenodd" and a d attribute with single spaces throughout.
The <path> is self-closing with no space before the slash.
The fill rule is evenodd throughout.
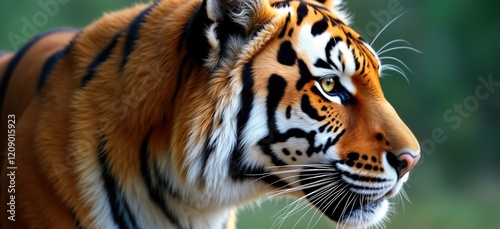
<path id="1" fill-rule="evenodd" d="M 7 86 L 9 85 L 10 78 L 12 77 L 12 74 L 17 68 L 17 65 L 21 61 L 21 59 L 24 57 L 24 54 L 28 52 L 28 50 L 35 44 L 37 43 L 40 39 L 57 33 L 57 32 L 78 32 L 78 30 L 72 29 L 72 28 L 60 28 L 60 29 L 54 29 L 47 31 L 45 33 L 42 33 L 35 38 L 33 38 L 30 42 L 28 42 L 26 45 L 24 45 L 17 53 L 14 55 L 14 57 L 10 60 L 9 64 L 7 65 L 7 69 L 5 70 L 5 73 L 3 74 L 2 77 L 2 82 L 0 83 L 0 108 L 3 107 L 3 102 L 5 99 L 5 93 L 7 92 Z"/>

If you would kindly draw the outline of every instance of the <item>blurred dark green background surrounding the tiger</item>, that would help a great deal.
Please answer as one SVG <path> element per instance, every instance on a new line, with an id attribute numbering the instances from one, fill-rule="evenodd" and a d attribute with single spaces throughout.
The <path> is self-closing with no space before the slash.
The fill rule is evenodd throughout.
<path id="1" fill-rule="evenodd" d="M 49 0 L 29 2 L 1 0 L 0 49 L 15 50 L 35 32 L 52 27 L 85 26 L 103 12 L 136 1 L 53 0 L 58 8 L 50 11 L 40 4 Z M 500 228 L 500 1 L 346 2 L 353 27 L 367 41 L 406 12 L 377 38 L 375 50 L 404 39 L 422 51 L 384 54 L 401 59 L 414 71 L 405 69 L 409 83 L 400 74 L 385 72 L 382 85 L 422 147 L 421 162 L 405 188 L 411 203 L 395 199 L 396 210 L 386 227 Z M 22 31 L 26 23 L 35 31 Z M 392 47 L 398 45 L 403 43 Z M 395 61 L 383 62 L 404 69 Z M 493 82 L 480 86 L 487 81 Z M 239 228 L 271 228 L 280 222 L 283 215 L 276 212 L 286 203 L 272 200 L 244 208 Z M 318 219 L 314 228 L 332 227 L 307 210 L 287 218 L 281 228 L 308 228 Z"/>

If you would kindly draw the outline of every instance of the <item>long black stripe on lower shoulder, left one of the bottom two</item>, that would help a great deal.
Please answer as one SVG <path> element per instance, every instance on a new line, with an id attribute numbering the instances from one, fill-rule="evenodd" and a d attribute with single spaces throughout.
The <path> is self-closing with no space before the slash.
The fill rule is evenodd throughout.
<path id="1" fill-rule="evenodd" d="M 135 217 L 130 211 L 127 200 L 124 198 L 122 190 L 117 184 L 113 171 L 109 166 L 108 151 L 106 147 L 106 139 L 104 136 L 99 140 L 99 163 L 102 169 L 102 179 L 104 188 L 108 195 L 109 206 L 113 220 L 119 228 L 138 228 Z"/>

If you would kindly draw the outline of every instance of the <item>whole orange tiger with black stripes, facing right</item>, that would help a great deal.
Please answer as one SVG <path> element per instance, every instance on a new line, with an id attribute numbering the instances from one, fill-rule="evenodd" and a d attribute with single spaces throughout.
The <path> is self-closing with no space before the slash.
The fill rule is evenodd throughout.
<path id="1" fill-rule="evenodd" d="M 157 0 L 5 53 L 2 228 L 235 228 L 268 196 L 383 223 L 420 147 L 349 23 L 340 0 Z"/>

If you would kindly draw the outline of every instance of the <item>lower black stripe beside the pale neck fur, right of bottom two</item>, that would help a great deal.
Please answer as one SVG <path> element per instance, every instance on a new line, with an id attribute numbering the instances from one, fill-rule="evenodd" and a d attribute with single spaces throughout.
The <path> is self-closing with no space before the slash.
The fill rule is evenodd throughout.
<path id="1" fill-rule="evenodd" d="M 167 190 L 172 186 L 166 184 L 165 181 L 163 181 L 163 179 L 159 177 L 158 171 L 156 170 L 156 166 L 154 165 L 154 163 L 149 161 L 149 148 L 148 148 L 149 138 L 150 134 L 148 134 L 146 138 L 142 141 L 140 150 L 141 174 L 144 179 L 146 188 L 148 189 L 149 198 L 151 198 L 152 202 L 160 208 L 160 210 L 163 212 L 163 215 L 165 215 L 165 217 L 167 217 L 167 219 L 172 224 L 174 224 L 177 228 L 181 228 L 179 220 L 167 206 L 168 203 L 165 200 L 164 196 L 165 186 L 170 186 L 167 187 Z M 151 171 L 151 168 L 153 168 L 153 172 Z M 170 191 L 170 193 L 172 192 Z"/>

